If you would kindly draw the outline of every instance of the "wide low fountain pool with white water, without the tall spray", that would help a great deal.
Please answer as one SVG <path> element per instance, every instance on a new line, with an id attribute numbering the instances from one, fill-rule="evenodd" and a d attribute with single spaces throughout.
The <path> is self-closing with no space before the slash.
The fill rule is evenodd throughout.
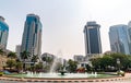
<path id="1" fill-rule="evenodd" d="M 10 74 L 9 76 L 14 78 L 40 78 L 40 79 L 88 79 L 88 78 L 111 78 L 116 75 L 110 74 L 97 74 L 97 73 L 33 73 L 27 72 L 27 74 Z"/>

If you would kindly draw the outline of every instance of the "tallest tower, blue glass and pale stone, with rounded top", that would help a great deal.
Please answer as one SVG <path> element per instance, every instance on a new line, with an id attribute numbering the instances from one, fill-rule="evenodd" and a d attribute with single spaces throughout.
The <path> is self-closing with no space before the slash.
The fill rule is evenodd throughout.
<path id="1" fill-rule="evenodd" d="M 21 51 L 28 51 L 31 57 L 41 54 L 41 23 L 36 14 L 27 14 L 22 38 Z"/>

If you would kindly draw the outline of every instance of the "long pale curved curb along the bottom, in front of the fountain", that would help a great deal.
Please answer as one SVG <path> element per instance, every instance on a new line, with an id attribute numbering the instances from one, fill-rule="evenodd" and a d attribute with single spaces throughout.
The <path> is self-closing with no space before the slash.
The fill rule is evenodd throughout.
<path id="1" fill-rule="evenodd" d="M 26 78 L 0 78 L 3 81 L 16 81 L 16 82 L 114 82 L 129 80 L 131 76 L 117 76 L 108 79 L 26 79 Z"/>

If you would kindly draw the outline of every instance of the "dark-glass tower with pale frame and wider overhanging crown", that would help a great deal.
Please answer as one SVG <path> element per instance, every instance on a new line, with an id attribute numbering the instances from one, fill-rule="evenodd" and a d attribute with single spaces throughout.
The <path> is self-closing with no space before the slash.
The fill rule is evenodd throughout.
<path id="1" fill-rule="evenodd" d="M 102 42 L 99 24 L 96 22 L 87 22 L 84 27 L 84 39 L 85 39 L 85 55 L 92 56 L 96 54 L 102 54 Z"/>

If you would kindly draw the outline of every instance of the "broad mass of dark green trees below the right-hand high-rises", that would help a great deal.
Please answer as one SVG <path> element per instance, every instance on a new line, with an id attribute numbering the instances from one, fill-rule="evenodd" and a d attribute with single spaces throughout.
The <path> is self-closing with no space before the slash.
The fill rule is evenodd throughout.
<path id="1" fill-rule="evenodd" d="M 119 64 L 117 63 L 117 59 L 120 60 Z M 114 71 L 118 70 L 118 68 L 122 70 L 131 68 L 131 56 L 123 54 L 104 55 L 103 58 L 94 58 L 91 61 L 95 70 L 100 68 L 104 71 L 109 71 L 109 67 L 115 68 Z"/>

